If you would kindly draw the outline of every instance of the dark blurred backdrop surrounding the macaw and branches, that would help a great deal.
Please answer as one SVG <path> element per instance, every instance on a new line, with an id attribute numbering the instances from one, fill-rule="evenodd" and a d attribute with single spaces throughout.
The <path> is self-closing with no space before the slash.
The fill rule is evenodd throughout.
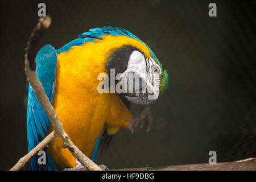
<path id="1" fill-rule="evenodd" d="M 169 75 L 151 106 L 151 131 L 120 130 L 99 164 L 110 169 L 256 156 L 255 1 L 1 1 L 0 169 L 27 153 L 24 48 L 46 3 L 56 49 L 89 28 L 122 27 L 142 39 Z M 208 5 L 217 5 L 217 17 Z M 133 113 L 137 107 L 133 106 Z"/>

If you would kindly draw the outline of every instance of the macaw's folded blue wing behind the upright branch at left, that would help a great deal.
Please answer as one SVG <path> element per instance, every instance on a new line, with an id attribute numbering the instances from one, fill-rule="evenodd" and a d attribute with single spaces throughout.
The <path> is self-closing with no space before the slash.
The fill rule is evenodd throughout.
<path id="1" fill-rule="evenodd" d="M 51 46 L 44 46 L 36 55 L 36 75 L 42 82 L 44 92 L 46 92 L 49 100 L 53 101 L 54 86 L 55 86 L 55 73 L 57 65 L 57 53 Z M 50 122 L 44 112 L 42 105 L 36 98 L 35 92 L 31 85 L 28 88 L 28 101 L 27 101 L 27 140 L 28 151 L 31 151 L 40 140 L 47 134 Z M 48 154 L 47 154 L 48 155 Z M 38 168 L 37 156 L 30 160 L 31 170 Z M 47 158 L 49 159 L 49 158 Z M 54 169 L 56 165 L 53 162 L 49 163 L 51 166 L 48 168 Z M 47 164 L 48 165 L 48 164 Z"/>

